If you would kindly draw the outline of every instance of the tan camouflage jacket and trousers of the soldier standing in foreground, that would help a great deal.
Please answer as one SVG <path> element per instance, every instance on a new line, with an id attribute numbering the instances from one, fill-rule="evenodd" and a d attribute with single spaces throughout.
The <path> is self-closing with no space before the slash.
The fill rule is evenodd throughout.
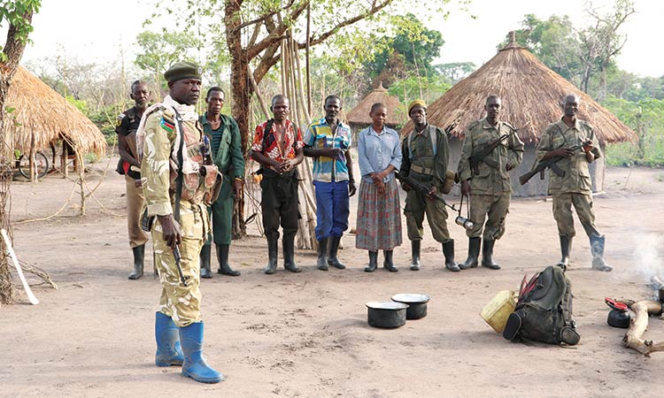
<path id="1" fill-rule="evenodd" d="M 173 111 L 163 107 L 151 112 L 145 121 L 141 176 L 143 194 L 150 216 L 166 216 L 174 213 L 176 172 L 173 169 L 174 160 L 171 155 L 175 143 L 175 123 Z M 184 150 L 193 161 L 197 161 L 195 156 L 199 150 L 203 129 L 197 120 L 187 120 L 182 125 L 185 130 L 183 135 L 186 137 Z M 180 265 L 185 278 L 189 277 L 189 286 L 181 284 L 173 251 L 164 241 L 161 225 L 155 222 L 151 231 L 155 264 L 163 287 L 159 311 L 173 318 L 178 327 L 185 327 L 201 320 L 198 254 L 209 229 L 209 217 L 202 200 L 202 184 L 188 183 L 191 178 L 197 180 L 197 177 L 193 174 L 185 175 L 185 188 L 193 189 L 196 194 L 182 195 L 180 201 Z"/>

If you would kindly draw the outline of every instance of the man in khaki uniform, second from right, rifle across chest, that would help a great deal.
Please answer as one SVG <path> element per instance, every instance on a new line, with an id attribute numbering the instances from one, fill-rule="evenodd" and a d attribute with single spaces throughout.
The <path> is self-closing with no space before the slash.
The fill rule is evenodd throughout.
<path id="1" fill-rule="evenodd" d="M 468 257 L 465 263 L 459 264 L 462 270 L 477 266 L 480 246 L 482 265 L 491 270 L 500 269 L 500 265 L 493 261 L 493 246 L 505 233 L 505 219 L 512 196 L 509 171 L 521 165 L 523 160 L 523 142 L 515 133 L 516 130 L 506 122 L 498 120 L 501 103 L 498 96 L 487 98 L 484 104 L 486 118 L 467 127 L 461 149 L 458 167 L 461 195 L 469 196 L 470 220 L 475 225 L 466 231 L 469 238 Z M 484 156 L 474 170 L 469 158 L 475 151 L 505 135 L 508 136 Z M 483 239 L 482 244 L 480 237 Z"/>

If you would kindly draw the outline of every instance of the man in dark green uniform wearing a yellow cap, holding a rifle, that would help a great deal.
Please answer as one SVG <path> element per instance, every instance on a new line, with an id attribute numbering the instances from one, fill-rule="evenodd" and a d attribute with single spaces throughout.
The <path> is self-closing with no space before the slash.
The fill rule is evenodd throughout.
<path id="1" fill-rule="evenodd" d="M 415 100 L 408 105 L 408 116 L 413 120 L 414 129 L 402 142 L 401 153 L 404 157 L 399 176 L 410 177 L 430 188 L 429 195 L 424 195 L 405 182 L 401 184 L 407 192 L 404 214 L 413 251 L 411 270 L 418 271 L 421 267 L 420 249 L 424 234 L 422 221 L 426 214 L 434 239 L 443 245 L 445 267 L 457 272 L 459 265 L 454 262 L 454 240 L 450 238 L 447 229 L 447 210 L 444 203 L 433 196 L 442 193 L 447 174 L 447 162 L 450 159 L 447 134 L 427 123 L 427 104 L 422 100 Z"/>

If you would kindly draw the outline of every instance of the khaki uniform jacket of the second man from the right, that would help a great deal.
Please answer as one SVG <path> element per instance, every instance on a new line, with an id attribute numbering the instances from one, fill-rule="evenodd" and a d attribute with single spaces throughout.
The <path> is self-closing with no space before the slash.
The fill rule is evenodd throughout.
<path id="1" fill-rule="evenodd" d="M 478 166 L 479 173 L 474 175 L 468 158 L 484 143 L 493 142 L 503 135 L 511 134 L 514 130 L 506 122 L 498 121 L 496 126 L 490 126 L 486 119 L 471 123 L 466 129 L 466 139 L 463 141 L 461 158 L 459 159 L 459 180 L 470 180 L 470 189 L 477 195 L 503 195 L 512 192 L 510 174 L 506 170 L 507 163 L 514 168 L 521 165 L 523 160 L 523 142 L 517 134 L 500 142 L 496 149 L 487 156 L 494 164 L 494 168 L 486 162 Z"/>

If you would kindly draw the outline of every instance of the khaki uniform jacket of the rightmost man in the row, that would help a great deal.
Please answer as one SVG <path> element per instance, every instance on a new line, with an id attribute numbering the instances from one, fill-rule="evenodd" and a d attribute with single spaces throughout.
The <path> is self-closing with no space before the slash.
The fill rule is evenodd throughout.
<path id="1" fill-rule="evenodd" d="M 544 130 L 542 139 L 537 145 L 537 160 L 553 149 L 570 148 L 588 140 L 592 141 L 591 153 L 595 158 L 601 157 L 599 142 L 591 125 L 576 119 L 574 126 L 567 127 L 560 119 Z M 556 165 L 565 172 L 565 176 L 559 177 L 554 172 L 549 172 L 549 195 L 592 192 L 591 172 L 582 149 L 575 150 L 572 157 L 563 158 Z"/>

